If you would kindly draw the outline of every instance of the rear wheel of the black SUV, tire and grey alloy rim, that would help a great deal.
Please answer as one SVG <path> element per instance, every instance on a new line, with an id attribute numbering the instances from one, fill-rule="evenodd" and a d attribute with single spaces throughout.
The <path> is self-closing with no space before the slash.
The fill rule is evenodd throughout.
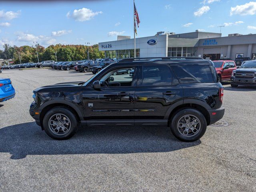
<path id="1" fill-rule="evenodd" d="M 186 142 L 200 139 L 206 131 L 207 123 L 204 115 L 192 108 L 177 112 L 172 118 L 171 131 L 176 138 Z"/>

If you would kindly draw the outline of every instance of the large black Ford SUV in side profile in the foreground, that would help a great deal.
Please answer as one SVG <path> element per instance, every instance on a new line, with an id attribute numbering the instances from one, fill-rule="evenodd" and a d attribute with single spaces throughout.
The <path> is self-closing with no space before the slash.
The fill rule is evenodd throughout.
<path id="1" fill-rule="evenodd" d="M 119 70 L 134 74 L 116 74 Z M 176 138 L 195 141 L 220 120 L 223 86 L 210 60 L 123 59 L 87 82 L 34 90 L 30 115 L 55 139 L 70 138 L 79 124 L 164 125 Z"/>

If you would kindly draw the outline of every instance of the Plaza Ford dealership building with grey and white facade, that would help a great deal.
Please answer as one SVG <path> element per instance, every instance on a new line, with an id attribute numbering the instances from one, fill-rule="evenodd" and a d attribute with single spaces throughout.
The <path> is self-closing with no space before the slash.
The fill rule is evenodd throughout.
<path id="1" fill-rule="evenodd" d="M 134 57 L 134 39 L 118 36 L 118 40 L 99 43 L 106 58 Z M 211 60 L 250 57 L 256 59 L 256 34 L 195 32 L 175 34 L 158 32 L 155 36 L 136 38 L 136 57 L 196 56 Z"/>

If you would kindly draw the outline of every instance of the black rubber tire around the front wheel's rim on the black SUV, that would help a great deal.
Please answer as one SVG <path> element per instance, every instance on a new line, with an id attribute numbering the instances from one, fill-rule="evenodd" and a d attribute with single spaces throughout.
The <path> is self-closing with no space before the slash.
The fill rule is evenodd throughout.
<path id="1" fill-rule="evenodd" d="M 65 116 L 67 116 L 69 118 L 70 127 L 66 134 L 58 135 L 58 134 L 54 133 L 52 131 L 52 129 L 50 128 L 49 121 L 50 121 L 50 118 L 52 116 L 54 116 L 54 114 L 64 114 Z M 76 116 L 74 115 L 74 113 L 72 111 L 70 111 L 68 108 L 55 107 L 55 108 L 50 109 L 44 116 L 43 126 L 44 126 L 44 130 L 45 130 L 46 134 L 48 134 L 48 136 L 50 136 L 51 138 L 54 138 L 57 140 L 65 140 L 65 139 L 72 137 L 76 133 L 79 123 L 78 123 L 78 120 L 77 120 Z"/>

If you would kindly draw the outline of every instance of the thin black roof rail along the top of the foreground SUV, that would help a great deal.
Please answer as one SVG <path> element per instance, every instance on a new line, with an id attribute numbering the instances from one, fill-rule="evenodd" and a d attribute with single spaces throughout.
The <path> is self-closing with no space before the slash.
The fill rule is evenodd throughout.
<path id="1" fill-rule="evenodd" d="M 136 62 L 136 61 L 155 61 L 155 60 L 184 60 L 184 59 L 203 59 L 201 57 L 144 57 L 144 58 L 125 58 L 122 59 L 120 61 L 118 61 L 118 63 L 126 63 L 126 62 Z"/>

